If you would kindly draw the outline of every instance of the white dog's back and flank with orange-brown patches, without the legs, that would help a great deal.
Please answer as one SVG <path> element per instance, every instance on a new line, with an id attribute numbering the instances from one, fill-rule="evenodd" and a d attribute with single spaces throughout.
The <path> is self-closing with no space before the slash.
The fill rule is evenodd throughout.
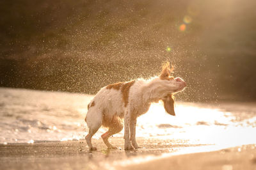
<path id="1" fill-rule="evenodd" d="M 124 109 L 128 104 L 129 89 L 134 82 L 118 82 L 100 89 L 88 104 L 88 112 L 85 118 L 88 127 L 95 126 L 95 124 L 97 127 L 100 125 L 108 127 L 108 124 L 115 117 L 124 118 Z"/>

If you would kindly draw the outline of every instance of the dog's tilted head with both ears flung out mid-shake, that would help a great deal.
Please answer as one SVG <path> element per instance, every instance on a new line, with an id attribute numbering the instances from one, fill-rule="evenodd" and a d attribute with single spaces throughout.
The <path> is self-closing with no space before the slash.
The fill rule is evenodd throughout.
<path id="1" fill-rule="evenodd" d="M 172 77 L 172 71 L 173 66 L 170 63 L 166 63 L 159 75 L 159 82 L 164 89 L 163 96 L 161 97 L 161 100 L 164 102 L 164 109 L 169 114 L 175 116 L 173 95 L 182 91 L 186 87 L 186 82 L 179 77 Z"/>

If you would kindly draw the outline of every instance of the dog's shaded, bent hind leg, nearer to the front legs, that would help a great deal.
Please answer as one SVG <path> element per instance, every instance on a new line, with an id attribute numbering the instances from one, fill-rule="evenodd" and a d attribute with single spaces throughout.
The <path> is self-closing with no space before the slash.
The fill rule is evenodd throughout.
<path id="1" fill-rule="evenodd" d="M 108 138 L 111 135 L 117 134 L 118 132 L 120 132 L 123 129 L 123 124 L 121 123 L 120 118 L 114 117 L 113 120 L 108 123 L 108 127 L 109 127 L 108 131 L 105 134 L 102 134 L 101 137 L 104 143 L 106 144 L 106 146 L 108 146 L 108 149 L 116 149 L 116 147 L 114 147 L 112 144 L 109 143 Z"/>

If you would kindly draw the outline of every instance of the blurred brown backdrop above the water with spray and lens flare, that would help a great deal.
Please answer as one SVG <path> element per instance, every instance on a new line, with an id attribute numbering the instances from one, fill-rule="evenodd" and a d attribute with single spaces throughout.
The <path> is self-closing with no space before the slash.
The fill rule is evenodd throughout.
<path id="1" fill-rule="evenodd" d="M 182 101 L 256 100 L 254 0 L 0 2 L 0 86 L 95 94 L 158 75 Z"/>

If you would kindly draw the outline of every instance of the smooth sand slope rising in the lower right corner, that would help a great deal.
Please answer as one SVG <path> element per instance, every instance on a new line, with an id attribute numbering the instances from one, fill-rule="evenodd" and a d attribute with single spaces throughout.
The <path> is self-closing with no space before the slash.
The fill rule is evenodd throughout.
<path id="1" fill-rule="evenodd" d="M 122 169 L 256 169 L 256 145 L 160 158 Z"/>

